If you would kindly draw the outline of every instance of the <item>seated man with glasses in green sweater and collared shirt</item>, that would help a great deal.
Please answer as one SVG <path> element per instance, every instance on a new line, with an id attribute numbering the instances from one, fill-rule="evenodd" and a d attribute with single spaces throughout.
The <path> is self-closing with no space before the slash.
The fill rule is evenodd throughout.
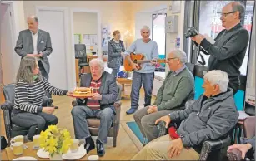
<path id="1" fill-rule="evenodd" d="M 184 51 L 175 49 L 168 54 L 168 72 L 163 85 L 158 90 L 153 105 L 144 107 L 133 115 L 143 137 L 151 141 L 158 138 L 158 127 L 155 121 L 170 112 L 181 110 L 188 100 L 194 96 L 194 80 L 192 73 L 185 65 L 187 56 Z"/>

